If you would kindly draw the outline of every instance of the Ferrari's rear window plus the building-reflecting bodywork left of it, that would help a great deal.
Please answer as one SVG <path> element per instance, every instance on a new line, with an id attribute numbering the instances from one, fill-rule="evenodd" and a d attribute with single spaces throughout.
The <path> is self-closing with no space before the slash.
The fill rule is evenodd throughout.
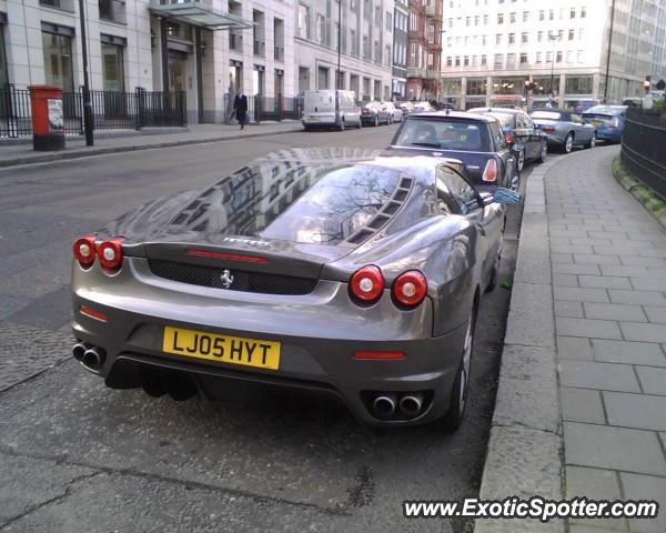
<path id="1" fill-rule="evenodd" d="M 400 170 L 372 164 L 264 160 L 204 191 L 170 231 L 335 245 L 384 207 L 400 180 Z"/>

